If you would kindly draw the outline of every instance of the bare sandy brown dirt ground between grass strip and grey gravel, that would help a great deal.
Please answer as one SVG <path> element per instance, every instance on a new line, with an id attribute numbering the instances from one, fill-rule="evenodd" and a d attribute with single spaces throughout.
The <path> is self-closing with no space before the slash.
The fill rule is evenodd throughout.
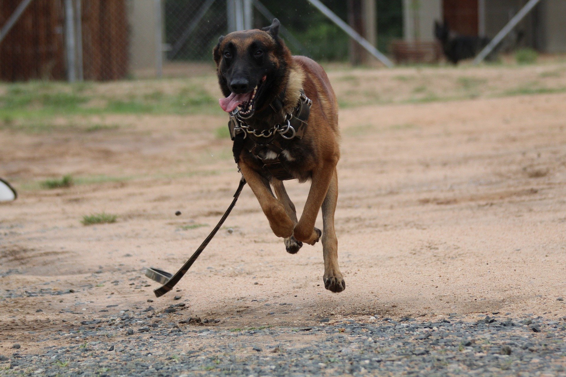
<path id="1" fill-rule="evenodd" d="M 356 85 L 363 72 L 337 86 Z M 336 230 L 346 290 L 338 294 L 324 289 L 320 243 L 286 253 L 246 187 L 177 292 L 153 296 L 158 284 L 142 268 L 176 271 L 237 187 L 230 140 L 215 132 L 224 115 L 109 115 L 105 122 L 126 126 L 93 133 L 0 129 L 0 176 L 20 194 L 0 204 L 0 354 L 12 343 L 29 352 L 56 344 L 37 340 L 62 320 L 135 310 L 148 299 L 159 310 L 179 302 L 175 295 L 224 328 L 566 315 L 566 301 L 556 300 L 566 291 L 566 93 L 516 94 L 340 111 Z M 64 174 L 82 178 L 37 187 Z M 308 185 L 287 187 L 301 209 Z M 101 211 L 118 221 L 81 224 Z M 269 314 L 266 303 L 292 310 Z"/>

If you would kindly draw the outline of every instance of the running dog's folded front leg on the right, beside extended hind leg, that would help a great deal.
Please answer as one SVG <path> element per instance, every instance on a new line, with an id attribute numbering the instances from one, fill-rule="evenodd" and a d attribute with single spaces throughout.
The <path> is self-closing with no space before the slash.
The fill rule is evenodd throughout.
<path id="1" fill-rule="evenodd" d="M 303 209 L 301 219 L 295 225 L 293 232 L 297 241 L 314 245 L 320 239 L 321 232 L 315 228 L 316 216 L 318 216 L 320 206 L 326 197 L 335 168 L 336 162 L 326 161 L 312 174 L 312 184 L 308 191 L 305 209 Z"/>

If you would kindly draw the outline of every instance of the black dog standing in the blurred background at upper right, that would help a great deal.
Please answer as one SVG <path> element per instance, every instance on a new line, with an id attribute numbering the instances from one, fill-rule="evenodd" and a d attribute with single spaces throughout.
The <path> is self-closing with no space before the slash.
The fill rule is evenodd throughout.
<path id="1" fill-rule="evenodd" d="M 453 64 L 474 58 L 490 42 L 490 38 L 487 37 L 462 36 L 451 32 L 446 21 L 443 24 L 434 22 L 434 35 L 442 44 L 444 56 Z M 488 56 L 487 59 L 493 60 L 494 57 Z"/>

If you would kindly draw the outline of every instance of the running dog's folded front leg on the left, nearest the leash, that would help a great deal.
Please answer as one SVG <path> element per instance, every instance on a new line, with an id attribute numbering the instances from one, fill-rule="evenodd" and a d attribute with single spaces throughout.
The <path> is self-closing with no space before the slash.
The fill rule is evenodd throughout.
<path id="1" fill-rule="evenodd" d="M 287 238 L 293 235 L 294 223 L 285 211 L 285 207 L 278 201 L 269 187 L 269 181 L 262 177 L 245 161 L 240 161 L 240 170 L 255 197 L 258 198 L 259 205 L 269 221 L 273 233 L 277 237 Z"/>

